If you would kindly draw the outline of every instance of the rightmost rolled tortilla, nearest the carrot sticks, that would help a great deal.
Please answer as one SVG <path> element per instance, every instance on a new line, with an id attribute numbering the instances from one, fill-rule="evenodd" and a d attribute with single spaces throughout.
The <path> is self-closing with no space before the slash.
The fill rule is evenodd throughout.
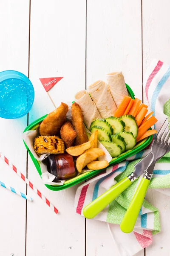
<path id="1" fill-rule="evenodd" d="M 109 90 L 118 108 L 124 96 L 128 96 L 124 76 L 122 72 L 113 72 L 107 74 L 106 78 Z"/>

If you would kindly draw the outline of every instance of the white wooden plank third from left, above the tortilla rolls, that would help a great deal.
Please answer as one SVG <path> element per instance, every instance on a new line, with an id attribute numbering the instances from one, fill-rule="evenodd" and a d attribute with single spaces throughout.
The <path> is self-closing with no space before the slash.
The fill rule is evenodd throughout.
<path id="1" fill-rule="evenodd" d="M 87 1 L 87 87 L 120 70 L 135 96 L 142 99 L 141 22 L 139 0 Z M 119 255 L 107 224 L 87 220 L 86 226 L 87 256 Z"/>

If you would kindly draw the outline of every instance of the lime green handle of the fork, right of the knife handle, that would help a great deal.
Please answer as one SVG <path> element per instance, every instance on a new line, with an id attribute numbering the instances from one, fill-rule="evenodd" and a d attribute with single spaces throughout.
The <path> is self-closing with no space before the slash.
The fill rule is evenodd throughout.
<path id="1" fill-rule="evenodd" d="M 142 178 L 120 225 L 124 233 L 132 232 L 138 218 L 150 180 Z"/>

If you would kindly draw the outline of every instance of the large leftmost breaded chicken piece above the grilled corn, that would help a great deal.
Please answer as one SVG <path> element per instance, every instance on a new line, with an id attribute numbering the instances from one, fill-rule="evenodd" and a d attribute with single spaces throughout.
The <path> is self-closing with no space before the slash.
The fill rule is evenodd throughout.
<path id="1" fill-rule="evenodd" d="M 61 126 L 65 122 L 65 116 L 68 112 L 68 105 L 61 103 L 53 112 L 49 113 L 47 117 L 40 124 L 40 135 L 52 136 L 57 135 Z"/>

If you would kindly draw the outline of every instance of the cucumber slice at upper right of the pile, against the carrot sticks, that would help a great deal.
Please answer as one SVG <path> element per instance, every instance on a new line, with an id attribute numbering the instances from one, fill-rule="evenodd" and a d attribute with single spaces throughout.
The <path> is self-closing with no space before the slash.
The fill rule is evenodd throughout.
<path id="1" fill-rule="evenodd" d="M 120 116 L 120 119 L 125 122 L 125 131 L 131 131 L 136 138 L 138 135 L 138 125 L 135 117 L 131 115 Z"/>

